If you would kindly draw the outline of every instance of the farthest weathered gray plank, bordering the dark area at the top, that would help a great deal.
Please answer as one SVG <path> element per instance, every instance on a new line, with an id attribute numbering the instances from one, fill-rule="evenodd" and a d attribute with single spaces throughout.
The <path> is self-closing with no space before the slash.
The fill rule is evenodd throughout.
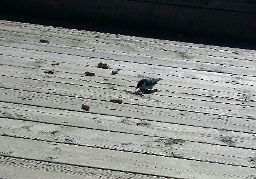
<path id="1" fill-rule="evenodd" d="M 85 31 L 85 30 L 76 30 L 76 29 L 65 29 L 65 28 L 56 28 L 51 26 L 42 26 L 36 24 L 28 24 L 28 23 L 19 23 L 19 22 L 8 22 L 5 20 L 0 20 L 1 30 L 3 31 L 12 31 L 12 33 L 33 33 L 39 35 L 40 37 L 44 36 L 55 36 L 61 38 L 68 38 L 69 41 L 94 41 L 97 43 L 104 44 L 121 44 L 125 46 L 125 50 L 127 47 L 134 46 L 136 44 L 138 47 L 143 49 L 154 48 L 161 50 L 173 50 L 179 52 L 192 52 L 195 54 L 211 54 L 214 52 L 215 55 L 229 58 L 243 58 L 245 57 L 255 57 L 255 51 L 253 50 L 244 50 L 238 48 L 230 48 L 230 47 L 218 47 L 212 45 L 204 45 L 204 44 L 192 44 L 192 43 L 183 43 L 179 41 L 170 41 L 170 40 L 159 40 L 153 38 L 142 38 L 142 37 L 132 37 L 132 36 L 124 36 L 120 34 L 108 34 L 108 33 L 99 33 L 95 31 Z M 14 27 L 14 28 L 13 28 Z M 33 30 L 33 31 L 31 31 Z M 77 37 L 79 36 L 79 38 Z M 69 38 L 70 37 L 70 38 Z M 34 40 L 32 40 L 34 41 Z M 84 45 L 84 43 L 79 43 L 80 45 Z M 110 47 L 111 48 L 111 47 Z M 116 48 L 115 48 L 116 49 Z M 156 50 L 157 50 L 156 49 Z M 138 49 L 135 49 L 138 50 Z M 195 52 L 196 51 L 196 52 Z M 212 55 L 212 54 L 211 54 Z M 216 59 L 218 60 L 218 59 Z M 223 61 L 222 61 L 223 62 Z"/>

